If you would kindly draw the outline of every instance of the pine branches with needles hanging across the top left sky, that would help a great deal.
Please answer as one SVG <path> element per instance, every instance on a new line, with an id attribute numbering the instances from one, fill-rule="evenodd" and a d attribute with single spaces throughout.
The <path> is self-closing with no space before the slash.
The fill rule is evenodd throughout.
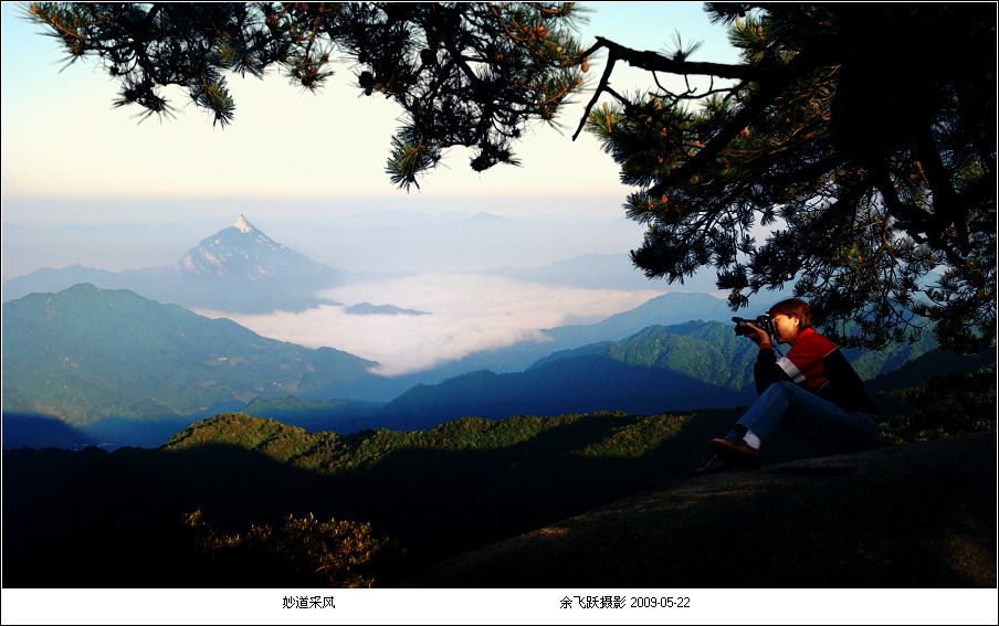
<path id="1" fill-rule="evenodd" d="M 36 2 L 30 17 L 71 60 L 96 56 L 120 81 L 117 106 L 170 115 L 167 85 L 225 126 L 235 117 L 227 73 L 280 68 L 308 91 L 337 61 L 357 86 L 404 109 L 386 169 L 401 188 L 453 146 L 475 171 L 516 163 L 512 140 L 551 121 L 582 84 L 571 3 L 482 2 Z"/>

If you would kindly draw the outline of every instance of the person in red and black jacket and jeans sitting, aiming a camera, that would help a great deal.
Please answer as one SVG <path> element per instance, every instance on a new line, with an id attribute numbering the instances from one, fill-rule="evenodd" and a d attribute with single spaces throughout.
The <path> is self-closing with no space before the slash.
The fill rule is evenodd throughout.
<path id="1" fill-rule="evenodd" d="M 708 443 L 713 457 L 696 474 L 758 467 L 760 444 L 778 424 L 830 454 L 877 445 L 877 407 L 839 348 L 812 329 L 808 303 L 784 300 L 768 316 L 733 318 L 736 333 L 759 346 L 753 367 L 759 397 L 725 438 Z M 777 357 L 770 332 L 791 346 L 787 357 Z"/>

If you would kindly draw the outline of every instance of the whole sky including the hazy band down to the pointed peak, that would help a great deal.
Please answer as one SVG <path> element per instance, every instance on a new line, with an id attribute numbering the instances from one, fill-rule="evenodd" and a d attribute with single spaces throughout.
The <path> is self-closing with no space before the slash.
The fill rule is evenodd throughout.
<path id="1" fill-rule="evenodd" d="M 383 172 L 399 109 L 361 96 L 349 85 L 348 66 L 319 94 L 277 74 L 230 76 L 236 116 L 224 129 L 179 92 L 171 96 L 176 118 L 139 123 L 138 109 L 113 108 L 118 84 L 92 60 L 66 66 L 59 42 L 21 17 L 22 4 L 0 7 L 4 278 L 74 263 L 115 270 L 173 263 L 240 213 L 282 243 L 348 268 L 391 265 L 379 244 L 412 248 L 414 236 L 366 241 L 349 220 L 371 212 L 490 212 L 528 221 L 572 215 L 549 241 L 532 242 L 544 247 L 522 246 L 536 252 L 525 255 L 527 265 L 623 253 L 640 243 L 641 229 L 619 223 L 629 189 L 618 167 L 589 135 L 570 139 L 588 92 L 562 109 L 561 132 L 536 125 L 515 146 L 523 167 L 476 173 L 467 151 L 455 148 L 420 190 L 406 193 Z M 662 51 L 673 47 L 679 31 L 684 42 L 703 42 L 697 60 L 737 60 L 724 28 L 712 24 L 698 2 L 581 4 L 589 19 L 579 24 L 583 45 L 601 35 Z M 592 60 L 590 88 L 604 59 Z M 649 73 L 619 64 L 612 85 L 633 92 L 653 83 Z M 349 240 L 338 236 L 345 231 Z M 466 241 L 482 254 L 464 255 L 464 266 L 511 262 L 488 257 L 495 250 L 486 242 Z M 440 269 L 445 261 L 431 253 L 453 247 L 433 242 L 421 258 Z M 349 254 L 335 254 L 345 248 Z"/>

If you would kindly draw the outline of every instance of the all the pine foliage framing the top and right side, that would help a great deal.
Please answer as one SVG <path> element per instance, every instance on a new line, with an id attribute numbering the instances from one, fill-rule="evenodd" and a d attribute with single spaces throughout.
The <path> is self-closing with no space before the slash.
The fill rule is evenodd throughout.
<path id="1" fill-rule="evenodd" d="M 733 308 L 793 284 L 846 346 L 996 338 L 996 11 L 987 3 L 707 3 L 743 61 L 694 61 L 571 34 L 572 3 L 33 3 L 71 59 L 96 56 L 116 104 L 167 114 L 179 85 L 227 125 L 225 73 L 281 67 L 315 89 L 335 59 L 404 110 L 386 166 L 419 185 L 449 147 L 483 171 L 551 121 L 607 54 L 579 131 L 603 141 L 648 225 L 649 277 L 713 266 Z M 664 24 L 664 26 L 666 26 Z M 612 87 L 624 62 L 652 93 Z M 675 91 L 662 74 L 709 76 Z M 687 82 L 690 85 L 690 82 Z M 598 106 L 599 105 L 599 106 Z M 761 241 L 760 241 L 761 240 Z"/>

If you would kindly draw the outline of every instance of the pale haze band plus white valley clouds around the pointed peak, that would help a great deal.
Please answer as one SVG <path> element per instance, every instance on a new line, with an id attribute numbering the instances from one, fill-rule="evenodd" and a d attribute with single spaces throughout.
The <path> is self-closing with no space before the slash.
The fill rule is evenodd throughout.
<path id="1" fill-rule="evenodd" d="M 222 298 L 191 308 L 264 337 L 377 361 L 381 375 L 545 341 L 544 329 L 599 321 L 666 291 L 713 290 L 711 280 L 670 286 L 645 278 L 627 254 L 639 226 L 612 214 L 337 214 L 292 206 L 287 215 L 272 209 L 248 217 L 280 244 L 344 273 L 317 294 L 324 304 L 302 310 L 277 298 L 273 310 L 240 314 Z M 191 211 L 180 203 L 170 220 L 141 226 L 101 222 L 99 211 L 76 226 L 4 223 L 4 278 L 72 264 L 113 272 L 175 265 L 192 243 L 234 219 L 209 221 Z M 179 221 L 185 216 L 189 223 Z"/>

